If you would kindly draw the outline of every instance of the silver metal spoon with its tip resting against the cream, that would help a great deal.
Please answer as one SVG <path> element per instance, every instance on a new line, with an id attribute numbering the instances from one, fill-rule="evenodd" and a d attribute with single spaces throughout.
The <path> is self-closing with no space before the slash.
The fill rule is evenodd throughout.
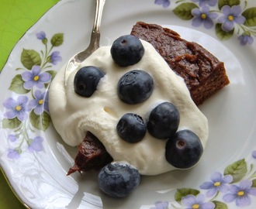
<path id="1" fill-rule="evenodd" d="M 64 82 L 65 86 L 67 86 L 67 77 L 69 74 L 71 74 L 72 71 L 76 67 L 78 67 L 78 64 L 84 61 L 87 57 L 89 57 L 95 50 L 99 48 L 99 29 L 101 25 L 102 20 L 102 12 L 103 7 L 105 5 L 106 0 L 95 0 L 96 8 L 95 8 L 95 19 L 94 24 L 92 27 L 92 34 L 91 34 L 91 41 L 87 49 L 81 51 L 80 53 L 74 54 L 73 57 L 68 61 L 67 66 L 65 68 L 64 73 Z"/>

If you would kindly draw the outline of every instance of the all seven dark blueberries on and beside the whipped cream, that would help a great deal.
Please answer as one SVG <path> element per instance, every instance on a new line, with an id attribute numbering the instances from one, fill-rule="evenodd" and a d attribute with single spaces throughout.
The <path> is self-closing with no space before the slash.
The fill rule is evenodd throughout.
<path id="1" fill-rule="evenodd" d="M 127 35 L 116 39 L 111 47 L 112 59 L 120 67 L 138 63 L 144 56 L 144 46 L 135 36 Z M 104 73 L 98 67 L 87 66 L 78 70 L 74 77 L 74 91 L 82 97 L 91 97 Z M 129 105 L 137 105 L 150 98 L 154 80 L 144 70 L 131 70 L 119 79 L 117 94 Z M 126 142 L 140 142 L 148 131 L 157 139 L 168 139 L 165 157 L 172 166 L 189 168 L 199 161 L 202 143 L 190 130 L 178 131 L 180 115 L 175 105 L 166 101 L 154 108 L 147 118 L 147 124 L 140 115 L 126 113 L 116 125 L 121 139 Z M 99 173 L 99 187 L 112 197 L 126 197 L 140 183 L 140 173 L 131 165 L 110 163 Z"/>

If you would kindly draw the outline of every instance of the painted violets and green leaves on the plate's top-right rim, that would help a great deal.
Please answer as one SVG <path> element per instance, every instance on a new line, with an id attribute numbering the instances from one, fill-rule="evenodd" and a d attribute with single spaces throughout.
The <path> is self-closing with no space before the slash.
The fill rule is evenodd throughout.
<path id="1" fill-rule="evenodd" d="M 155 0 L 154 4 L 168 8 L 178 18 L 191 21 L 192 26 L 214 29 L 220 40 L 237 34 L 241 46 L 250 45 L 256 36 L 256 7 L 248 7 L 247 0 Z"/>

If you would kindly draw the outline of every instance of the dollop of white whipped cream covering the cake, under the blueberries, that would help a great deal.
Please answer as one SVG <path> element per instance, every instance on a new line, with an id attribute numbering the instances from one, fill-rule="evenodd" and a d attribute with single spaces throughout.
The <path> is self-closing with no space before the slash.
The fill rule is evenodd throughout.
<path id="1" fill-rule="evenodd" d="M 68 76 L 66 87 L 65 66 L 62 67 L 50 85 L 50 116 L 57 132 L 68 145 L 78 146 L 85 139 L 86 132 L 92 132 L 114 161 L 129 163 L 142 175 L 157 175 L 176 169 L 165 159 L 167 140 L 154 139 L 147 132 L 140 142 L 125 142 L 116 132 L 119 119 L 132 112 L 147 121 L 150 111 L 161 102 L 169 101 L 180 113 L 178 130 L 195 132 L 203 148 L 208 139 L 208 122 L 192 101 L 182 77 L 170 69 L 150 43 L 141 42 L 145 49 L 144 56 L 139 63 L 130 67 L 119 67 L 114 63 L 110 54 L 111 46 L 100 47 L 81 63 Z M 106 74 L 90 98 L 83 98 L 74 92 L 74 76 L 85 66 L 99 67 Z M 120 77 L 130 70 L 145 70 L 154 79 L 154 91 L 150 98 L 138 105 L 127 105 L 117 95 Z"/>

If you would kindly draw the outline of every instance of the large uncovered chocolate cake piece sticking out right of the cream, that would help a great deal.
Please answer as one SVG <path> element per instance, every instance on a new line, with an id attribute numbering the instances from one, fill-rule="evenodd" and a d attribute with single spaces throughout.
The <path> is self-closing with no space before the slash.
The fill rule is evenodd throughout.
<path id="1" fill-rule="evenodd" d="M 171 29 L 137 22 L 131 34 L 151 43 L 171 69 L 184 78 L 195 105 L 201 105 L 230 83 L 224 63 L 198 43 L 182 39 Z"/>

